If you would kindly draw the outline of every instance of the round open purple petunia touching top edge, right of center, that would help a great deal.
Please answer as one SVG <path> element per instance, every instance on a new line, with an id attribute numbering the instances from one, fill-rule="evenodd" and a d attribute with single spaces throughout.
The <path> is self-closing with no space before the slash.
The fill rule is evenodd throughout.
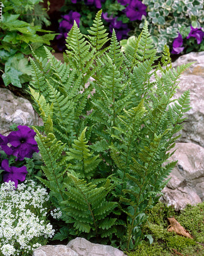
<path id="1" fill-rule="evenodd" d="M 131 21 L 142 20 L 142 15 L 147 15 L 146 9 L 147 6 L 142 4 L 141 1 L 131 0 L 126 9 L 124 9 L 124 13 L 126 13 L 127 18 L 129 18 Z"/>

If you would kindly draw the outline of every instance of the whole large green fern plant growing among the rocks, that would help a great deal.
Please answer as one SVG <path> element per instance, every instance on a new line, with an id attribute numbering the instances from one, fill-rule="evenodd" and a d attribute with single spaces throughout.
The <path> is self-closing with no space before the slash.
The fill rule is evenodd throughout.
<path id="1" fill-rule="evenodd" d="M 124 52 L 114 31 L 107 44 L 101 14 L 90 35 L 74 23 L 64 64 L 46 48 L 46 59 L 33 52 L 30 93 L 44 122 L 35 127 L 45 163 L 39 180 L 67 225 L 57 238 L 103 238 L 130 250 L 144 238 L 146 212 L 176 164 L 168 163 L 169 150 L 190 92 L 173 96 L 190 64 L 171 69 L 168 47 L 154 64 L 147 23 Z"/>

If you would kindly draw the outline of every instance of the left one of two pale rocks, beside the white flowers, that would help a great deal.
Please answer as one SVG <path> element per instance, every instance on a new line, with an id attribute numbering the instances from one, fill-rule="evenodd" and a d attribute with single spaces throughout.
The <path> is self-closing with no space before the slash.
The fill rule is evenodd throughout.
<path id="1" fill-rule="evenodd" d="M 66 245 L 44 245 L 33 251 L 33 256 L 79 256 Z"/>

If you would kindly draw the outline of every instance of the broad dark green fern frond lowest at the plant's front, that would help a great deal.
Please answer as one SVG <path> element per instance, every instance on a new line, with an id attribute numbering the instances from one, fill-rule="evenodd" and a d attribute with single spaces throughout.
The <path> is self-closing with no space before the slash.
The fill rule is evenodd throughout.
<path id="1" fill-rule="evenodd" d="M 73 175 L 68 175 L 68 177 L 70 183 L 65 184 L 67 200 L 63 202 L 69 209 L 66 211 L 65 221 L 67 223 L 74 222 L 74 227 L 85 233 L 94 230 L 98 236 L 100 219 L 105 220 L 107 214 L 112 211 L 116 204 L 105 201 L 108 190 L 104 187 L 97 188 L 96 185 L 80 180 Z M 109 229 L 113 224 L 114 221 L 112 223 L 107 221 L 107 225 L 104 223 L 103 228 Z"/>

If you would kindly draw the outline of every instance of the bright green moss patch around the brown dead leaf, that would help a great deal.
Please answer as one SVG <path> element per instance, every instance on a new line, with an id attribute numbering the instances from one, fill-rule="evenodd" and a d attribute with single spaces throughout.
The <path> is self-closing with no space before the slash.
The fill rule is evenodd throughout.
<path id="1" fill-rule="evenodd" d="M 144 235 L 154 238 L 153 244 L 142 241 L 129 256 L 170 256 L 175 252 L 188 256 L 203 256 L 204 246 L 204 202 L 196 206 L 187 206 L 183 211 L 176 212 L 159 202 L 148 212 L 148 223 L 144 226 Z M 193 239 L 168 232 L 168 218 L 174 217 Z"/>

